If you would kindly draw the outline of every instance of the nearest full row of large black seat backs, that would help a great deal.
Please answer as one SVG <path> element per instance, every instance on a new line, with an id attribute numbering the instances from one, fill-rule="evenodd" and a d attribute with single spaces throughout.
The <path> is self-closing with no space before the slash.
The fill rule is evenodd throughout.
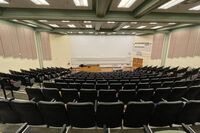
<path id="1" fill-rule="evenodd" d="M 68 103 L 0 100 L 3 123 L 27 122 L 31 125 L 72 127 L 142 127 L 143 125 L 170 126 L 194 124 L 200 120 L 200 101 L 130 102 L 123 103 Z"/>

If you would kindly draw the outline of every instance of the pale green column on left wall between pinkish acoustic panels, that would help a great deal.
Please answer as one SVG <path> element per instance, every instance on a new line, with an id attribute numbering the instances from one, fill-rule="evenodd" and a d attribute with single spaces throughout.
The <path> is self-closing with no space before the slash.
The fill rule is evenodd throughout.
<path id="1" fill-rule="evenodd" d="M 43 68 L 43 54 L 42 54 L 42 47 L 41 47 L 41 35 L 40 32 L 35 32 L 35 42 L 36 42 L 36 49 L 37 49 L 37 57 L 39 60 L 40 68 Z"/>

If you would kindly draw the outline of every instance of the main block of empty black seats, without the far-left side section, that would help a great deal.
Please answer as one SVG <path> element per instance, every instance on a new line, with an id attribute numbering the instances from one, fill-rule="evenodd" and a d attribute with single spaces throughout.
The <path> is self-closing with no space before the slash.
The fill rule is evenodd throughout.
<path id="1" fill-rule="evenodd" d="M 127 72 L 57 75 L 26 86 L 29 100 L 0 99 L 1 122 L 29 128 L 47 125 L 65 128 L 64 132 L 93 127 L 103 129 L 100 132 L 129 128 L 142 133 L 166 126 L 177 129 L 174 125 L 192 133 L 190 124 L 200 122 L 199 69 L 146 66 Z"/>

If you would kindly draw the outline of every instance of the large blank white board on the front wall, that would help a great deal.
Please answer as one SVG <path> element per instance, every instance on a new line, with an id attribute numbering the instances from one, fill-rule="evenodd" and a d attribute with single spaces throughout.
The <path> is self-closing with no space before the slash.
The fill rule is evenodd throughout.
<path id="1" fill-rule="evenodd" d="M 133 36 L 70 36 L 71 64 L 130 64 Z"/>

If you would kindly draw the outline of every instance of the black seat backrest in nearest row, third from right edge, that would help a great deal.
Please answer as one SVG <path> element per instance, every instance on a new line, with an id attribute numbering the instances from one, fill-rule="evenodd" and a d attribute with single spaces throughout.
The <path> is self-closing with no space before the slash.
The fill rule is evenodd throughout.
<path id="1" fill-rule="evenodd" d="M 153 102 L 129 102 L 124 113 L 125 127 L 142 127 L 147 125 L 153 115 Z"/>

